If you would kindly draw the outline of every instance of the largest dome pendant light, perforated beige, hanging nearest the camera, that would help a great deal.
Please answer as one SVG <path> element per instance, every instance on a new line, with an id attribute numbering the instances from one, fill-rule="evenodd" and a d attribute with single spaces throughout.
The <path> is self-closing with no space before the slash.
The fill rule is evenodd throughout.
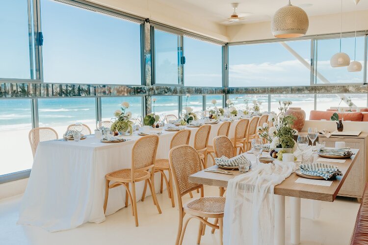
<path id="1" fill-rule="evenodd" d="M 307 33 L 309 20 L 307 13 L 290 3 L 280 8 L 271 21 L 271 31 L 274 37 L 293 38 Z"/>

